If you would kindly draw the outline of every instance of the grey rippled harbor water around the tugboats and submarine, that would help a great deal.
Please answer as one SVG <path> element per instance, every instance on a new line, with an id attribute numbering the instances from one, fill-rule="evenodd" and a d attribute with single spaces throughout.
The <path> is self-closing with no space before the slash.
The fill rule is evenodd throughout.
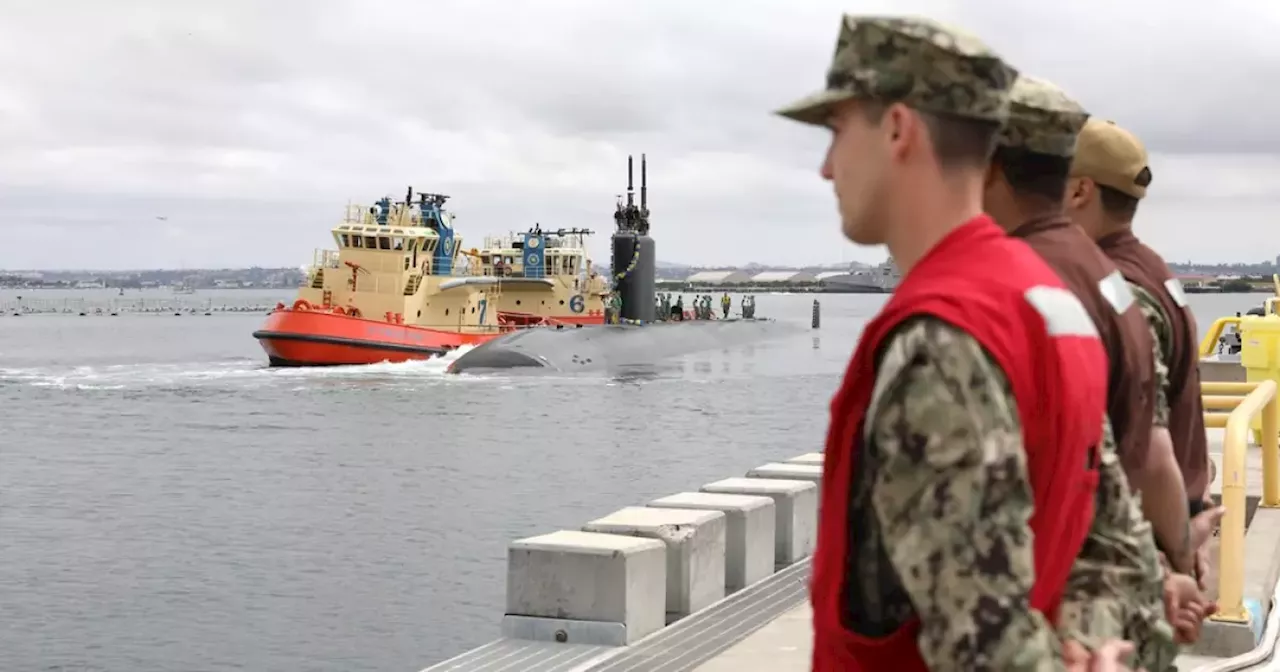
<path id="1" fill-rule="evenodd" d="M 814 298 L 759 297 L 794 337 L 589 375 L 269 370 L 250 310 L 289 291 L 4 312 L 0 669 L 416 671 L 492 640 L 509 540 L 820 448 L 884 297 L 818 296 L 809 330 Z M 1263 298 L 1190 301 L 1203 329 Z"/>

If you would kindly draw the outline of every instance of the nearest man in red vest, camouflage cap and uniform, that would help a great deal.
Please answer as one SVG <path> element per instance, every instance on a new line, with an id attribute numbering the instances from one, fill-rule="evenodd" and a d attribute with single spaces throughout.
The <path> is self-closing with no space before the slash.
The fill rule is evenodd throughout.
<path id="1" fill-rule="evenodd" d="M 1047 614 L 1093 518 L 1107 364 L 1080 302 L 982 211 L 1016 76 L 936 22 L 845 15 L 826 90 L 780 113 L 831 129 L 845 236 L 902 271 L 831 404 L 815 671 L 1088 664 Z"/>

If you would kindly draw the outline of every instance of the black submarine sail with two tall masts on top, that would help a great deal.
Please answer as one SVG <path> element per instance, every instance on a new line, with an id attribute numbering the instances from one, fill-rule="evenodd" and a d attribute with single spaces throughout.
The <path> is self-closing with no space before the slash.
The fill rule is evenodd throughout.
<path id="1" fill-rule="evenodd" d="M 620 321 L 654 320 L 655 247 L 649 237 L 649 175 L 640 155 L 640 206 L 635 204 L 635 161 L 627 156 L 627 200 L 613 212 L 613 291 L 622 300 Z"/>

